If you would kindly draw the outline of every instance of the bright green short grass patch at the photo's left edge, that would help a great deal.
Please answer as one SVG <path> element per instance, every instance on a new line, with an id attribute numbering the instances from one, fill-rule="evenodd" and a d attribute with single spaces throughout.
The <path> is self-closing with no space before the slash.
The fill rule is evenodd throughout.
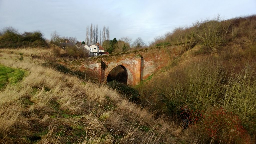
<path id="1" fill-rule="evenodd" d="M 15 69 L 0 64 L 0 90 L 8 84 L 15 84 L 23 79 L 25 70 Z"/>

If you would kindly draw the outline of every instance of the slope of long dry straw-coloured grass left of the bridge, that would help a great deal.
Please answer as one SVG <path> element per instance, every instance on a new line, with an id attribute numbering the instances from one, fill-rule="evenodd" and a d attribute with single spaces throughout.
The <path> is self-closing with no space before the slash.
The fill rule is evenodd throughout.
<path id="1" fill-rule="evenodd" d="M 174 123 L 106 86 L 42 67 L 32 53 L 48 50 L 1 49 L 2 65 L 29 73 L 0 91 L 1 143 L 179 143 Z"/>

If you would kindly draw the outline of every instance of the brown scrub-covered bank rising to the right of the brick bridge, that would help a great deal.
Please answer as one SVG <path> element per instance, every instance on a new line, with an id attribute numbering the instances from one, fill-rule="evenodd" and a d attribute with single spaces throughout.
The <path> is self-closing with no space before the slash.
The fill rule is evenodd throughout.
<path id="1" fill-rule="evenodd" d="M 176 29 L 156 40 L 154 44 L 192 39 L 197 45 L 191 49 L 184 44 L 190 50 L 138 87 L 141 100 L 151 111 L 168 114 L 178 121 L 181 107 L 188 105 L 189 109 L 197 110 L 190 117 L 195 124 L 190 125 L 188 135 L 183 137 L 190 143 L 254 143 L 256 16 L 220 24 L 228 28 L 227 34 L 220 36 L 216 49 L 197 37 L 204 25 L 209 28 L 207 32 L 211 31 L 214 26 L 210 21 Z M 218 27 L 220 33 L 222 30 Z"/>

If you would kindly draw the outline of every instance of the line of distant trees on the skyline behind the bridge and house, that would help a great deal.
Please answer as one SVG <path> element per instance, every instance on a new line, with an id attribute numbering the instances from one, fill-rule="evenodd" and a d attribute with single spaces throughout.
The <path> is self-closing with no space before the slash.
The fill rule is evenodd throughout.
<path id="1" fill-rule="evenodd" d="M 91 24 L 90 27 L 87 27 L 86 40 L 82 44 L 96 43 L 100 43 L 110 54 L 142 49 L 146 46 L 140 37 L 133 43 L 129 37 L 110 40 L 109 27 L 104 26 L 103 31 L 99 31 L 98 24 L 95 26 Z M 74 47 L 76 44 L 80 45 L 80 42 L 76 37 L 60 36 L 57 31 L 51 33 L 49 41 L 44 38 L 44 34 L 40 31 L 19 33 L 17 29 L 12 27 L 7 27 L 0 31 L 0 48 L 49 47 L 49 44 L 66 49 L 67 47 Z"/>

